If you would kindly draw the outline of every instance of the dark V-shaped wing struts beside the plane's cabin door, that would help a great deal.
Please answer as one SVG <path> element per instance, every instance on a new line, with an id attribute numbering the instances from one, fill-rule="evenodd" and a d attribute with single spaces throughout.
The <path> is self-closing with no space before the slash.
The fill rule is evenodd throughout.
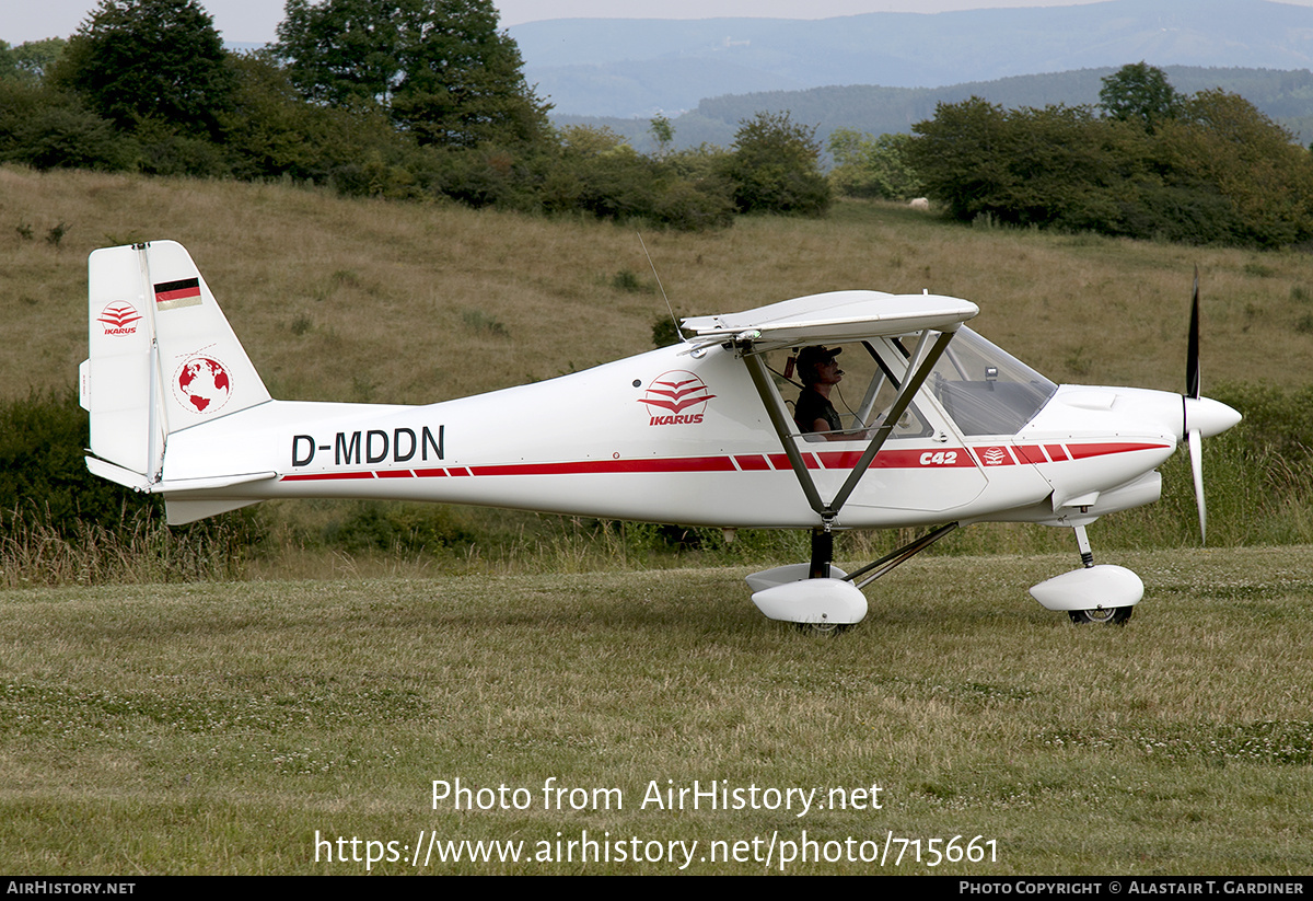
<path id="1" fill-rule="evenodd" d="M 815 481 L 811 478 L 811 473 L 807 472 L 806 461 L 802 460 L 802 453 L 798 450 L 797 441 L 793 439 L 793 420 L 788 415 L 788 407 L 784 406 L 784 398 L 780 397 L 779 389 L 776 389 L 775 382 L 771 380 L 769 373 L 765 369 L 765 363 L 758 353 L 754 353 L 751 340 L 739 343 L 738 348 L 743 356 L 743 363 L 747 364 L 748 374 L 752 377 L 752 385 L 756 387 L 758 394 L 762 397 L 762 403 L 765 406 L 765 412 L 771 419 L 771 424 L 775 427 L 776 435 L 780 437 L 780 444 L 784 447 L 784 453 L 789 458 L 789 465 L 793 466 L 793 474 L 798 478 L 798 485 L 802 487 L 802 494 L 806 495 L 807 503 L 811 510 L 821 516 L 825 523 L 825 529 L 829 531 L 830 523 L 839 515 L 843 504 L 848 502 L 848 498 L 856 490 L 857 483 L 861 477 L 867 473 L 867 468 L 871 466 L 871 461 L 876 458 L 880 449 L 889 440 L 893 433 L 894 427 L 902 418 L 903 412 L 911 405 L 911 399 L 920 390 L 930 372 L 939 363 L 939 357 L 944 355 L 948 348 L 948 343 L 953 340 L 953 331 L 937 332 L 935 343 L 927 351 L 926 345 L 930 343 L 931 330 L 924 330 L 920 334 L 920 340 L 916 341 L 916 349 L 913 351 L 911 356 L 907 359 L 907 378 L 903 380 L 902 385 L 898 386 L 898 394 L 894 398 L 893 406 L 889 407 L 889 412 L 885 415 L 884 424 L 876 429 L 876 433 L 871 437 L 869 444 L 867 444 L 865 452 L 863 452 L 861 458 L 848 473 L 848 478 L 844 479 L 843 486 L 839 489 L 838 494 L 827 503 L 821 498 L 821 493 L 817 490 Z"/>

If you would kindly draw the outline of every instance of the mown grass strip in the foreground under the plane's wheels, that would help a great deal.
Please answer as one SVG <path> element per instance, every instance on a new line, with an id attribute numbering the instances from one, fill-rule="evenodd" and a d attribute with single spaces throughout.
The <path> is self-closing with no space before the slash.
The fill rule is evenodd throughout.
<path id="1" fill-rule="evenodd" d="M 1313 549 L 1115 562 L 1148 586 L 1125 628 L 1025 595 L 1073 554 L 922 558 L 835 640 L 762 619 L 741 569 L 4 592 L 0 868 L 358 873 L 315 862 L 316 830 L 530 850 L 588 830 L 705 852 L 805 829 L 919 838 L 923 858 L 926 839 L 982 835 L 998 860 L 786 872 L 1309 872 Z M 433 809 L 432 781 L 457 778 L 534 802 Z M 618 788 L 624 809 L 544 810 L 548 778 Z M 695 779 L 878 784 L 882 806 L 641 809 L 653 780 Z"/>

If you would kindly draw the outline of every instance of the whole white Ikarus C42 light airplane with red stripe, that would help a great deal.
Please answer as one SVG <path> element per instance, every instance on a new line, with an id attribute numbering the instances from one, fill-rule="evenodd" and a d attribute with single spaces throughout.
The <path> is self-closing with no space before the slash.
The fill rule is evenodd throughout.
<path id="1" fill-rule="evenodd" d="M 1184 395 L 1054 385 L 966 328 L 977 311 L 834 292 L 684 319 L 674 347 L 478 397 L 274 401 L 180 244 L 113 247 L 89 260 L 87 465 L 163 494 L 171 524 L 309 496 L 810 529 L 810 562 L 747 581 L 765 616 L 822 630 L 860 621 L 864 586 L 958 525 L 1062 525 L 1082 566 L 1031 594 L 1124 623 L 1144 583 L 1095 566 L 1086 525 L 1157 500 L 1155 469 L 1184 441 L 1203 529 L 1200 437 L 1239 422 L 1199 394 L 1197 281 Z M 851 403 L 831 394 L 848 410 L 829 433 L 790 411 L 794 355 L 815 345 L 842 348 L 856 385 Z M 915 525 L 932 528 L 869 566 L 831 565 L 836 529 Z"/>

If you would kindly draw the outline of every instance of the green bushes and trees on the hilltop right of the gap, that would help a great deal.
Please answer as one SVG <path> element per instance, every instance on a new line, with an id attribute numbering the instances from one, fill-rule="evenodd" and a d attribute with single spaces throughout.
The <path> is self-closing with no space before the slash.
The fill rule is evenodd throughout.
<path id="1" fill-rule="evenodd" d="M 830 146 L 847 192 L 919 190 L 965 222 L 1246 247 L 1313 239 L 1309 151 L 1243 97 L 1183 96 L 1142 62 L 1103 79 L 1098 106 L 970 97 L 884 146 Z"/>

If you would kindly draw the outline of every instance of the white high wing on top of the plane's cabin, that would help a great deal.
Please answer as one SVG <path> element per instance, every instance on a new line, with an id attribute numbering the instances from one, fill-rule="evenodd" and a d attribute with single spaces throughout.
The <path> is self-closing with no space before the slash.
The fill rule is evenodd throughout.
<path id="1" fill-rule="evenodd" d="M 755 310 L 691 317 L 684 328 L 697 344 L 750 340 L 755 352 L 794 344 L 890 338 L 920 331 L 955 332 L 979 313 L 970 301 L 941 294 L 830 292 L 781 301 Z"/>

